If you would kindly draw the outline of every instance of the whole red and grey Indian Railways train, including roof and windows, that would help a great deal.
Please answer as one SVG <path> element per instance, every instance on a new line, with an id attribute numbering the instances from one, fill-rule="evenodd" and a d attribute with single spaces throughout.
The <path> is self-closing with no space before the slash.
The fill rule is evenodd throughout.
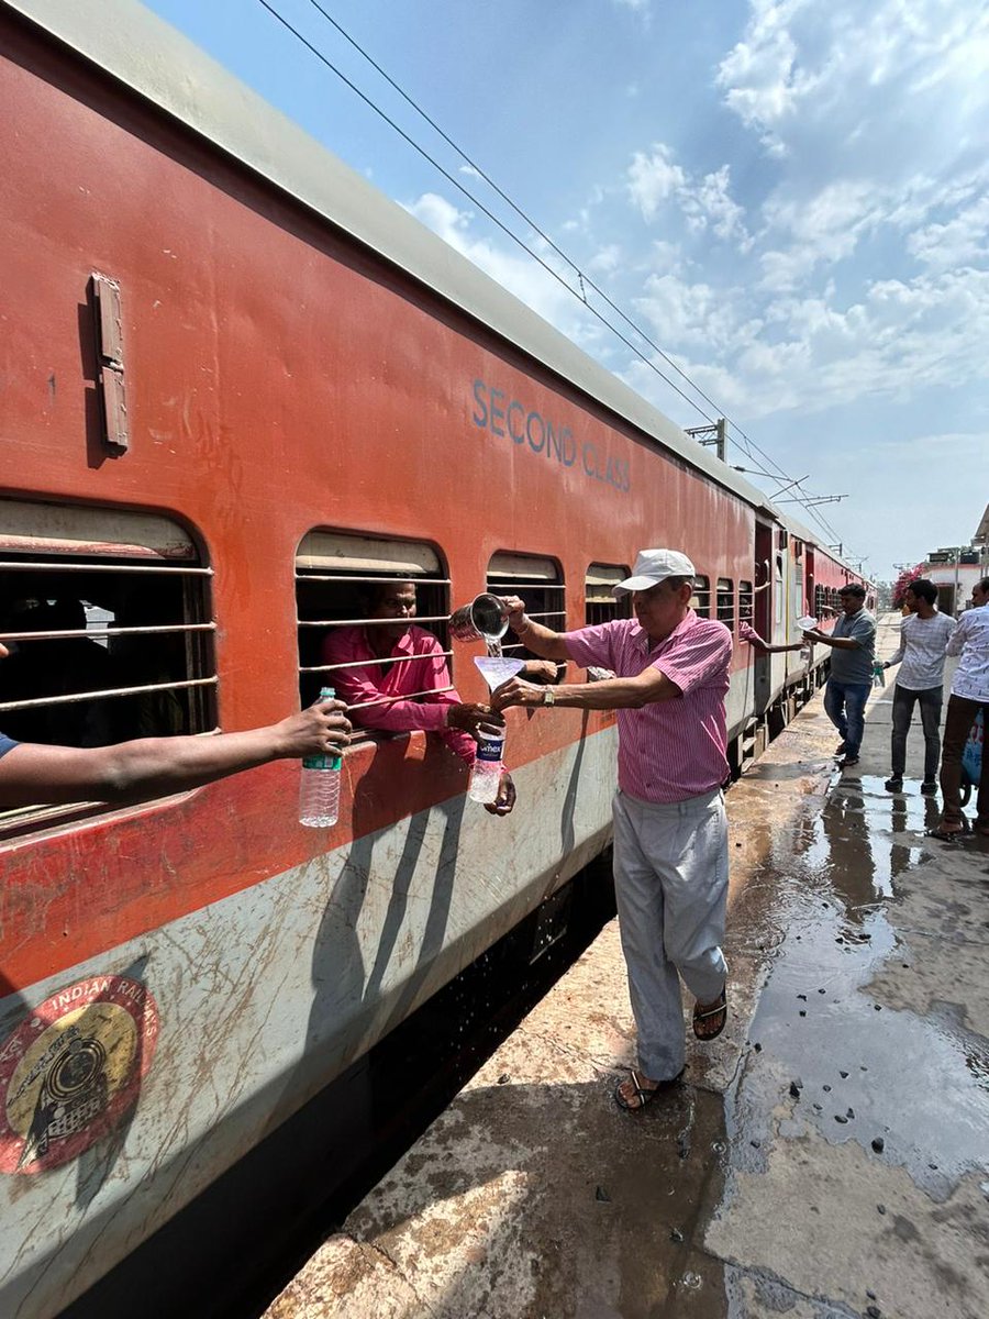
<path id="1" fill-rule="evenodd" d="M 737 637 L 833 616 L 808 530 L 148 11 L 0 32 L 5 733 L 273 723 L 394 580 L 480 700 L 454 607 L 620 617 L 647 545 L 736 633 L 736 772 L 810 695 L 822 656 Z M 331 830 L 291 762 L 0 816 L 0 1311 L 57 1314 L 605 849 L 614 752 L 510 711 L 505 819 L 373 731 Z"/>

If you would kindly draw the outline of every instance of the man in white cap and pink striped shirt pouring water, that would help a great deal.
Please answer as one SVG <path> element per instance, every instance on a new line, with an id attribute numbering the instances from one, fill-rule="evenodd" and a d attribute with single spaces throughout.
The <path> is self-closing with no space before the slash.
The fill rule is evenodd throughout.
<path id="1" fill-rule="evenodd" d="M 637 1111 L 683 1072 L 678 972 L 696 1000 L 699 1039 L 719 1035 L 728 1013 L 721 785 L 728 777 L 724 698 L 732 634 L 690 608 L 694 565 L 678 550 L 642 550 L 633 575 L 613 591 L 632 594 L 634 619 L 563 633 L 527 619 L 518 596 L 505 596 L 509 624 L 529 650 L 611 669 L 616 677 L 558 687 L 513 678 L 498 687 L 493 704 L 618 711 L 614 888 L 638 1068 L 614 1099 Z"/>

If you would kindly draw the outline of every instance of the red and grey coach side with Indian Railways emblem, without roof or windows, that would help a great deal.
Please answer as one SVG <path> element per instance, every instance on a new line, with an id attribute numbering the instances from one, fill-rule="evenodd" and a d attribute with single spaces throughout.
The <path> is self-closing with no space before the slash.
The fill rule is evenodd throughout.
<path id="1" fill-rule="evenodd" d="M 297 706 L 313 529 L 435 546 L 452 604 L 494 554 L 553 559 L 571 628 L 588 566 L 642 545 L 687 550 L 712 592 L 753 579 L 736 493 L 3 12 L 0 30 L 4 484 L 190 530 L 224 728 Z M 121 290 L 113 458 L 94 273 Z M 750 661 L 737 646 L 734 728 Z M 510 712 L 508 758 L 506 820 L 411 735 L 347 757 L 327 835 L 298 827 L 280 764 L 0 849 L 13 1312 L 67 1302 L 607 845 L 613 715 Z"/>

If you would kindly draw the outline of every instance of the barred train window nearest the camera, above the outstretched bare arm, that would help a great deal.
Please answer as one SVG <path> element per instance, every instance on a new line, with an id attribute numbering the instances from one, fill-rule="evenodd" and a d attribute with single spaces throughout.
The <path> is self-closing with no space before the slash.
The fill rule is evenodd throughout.
<path id="1" fill-rule="evenodd" d="M 214 729 L 211 574 L 169 518 L 0 500 L 0 640 L 11 650 L 0 728 L 70 747 Z"/>

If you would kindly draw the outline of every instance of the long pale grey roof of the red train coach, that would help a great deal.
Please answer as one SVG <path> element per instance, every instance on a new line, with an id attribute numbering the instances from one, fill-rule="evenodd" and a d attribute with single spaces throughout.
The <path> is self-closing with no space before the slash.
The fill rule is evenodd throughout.
<path id="1" fill-rule="evenodd" d="M 0 0 L 554 373 L 779 518 L 766 495 L 136 0 Z M 0 11 L 1 12 L 1 11 Z M 795 524 L 798 526 L 799 524 Z M 800 529 L 806 539 L 816 537 Z"/>

